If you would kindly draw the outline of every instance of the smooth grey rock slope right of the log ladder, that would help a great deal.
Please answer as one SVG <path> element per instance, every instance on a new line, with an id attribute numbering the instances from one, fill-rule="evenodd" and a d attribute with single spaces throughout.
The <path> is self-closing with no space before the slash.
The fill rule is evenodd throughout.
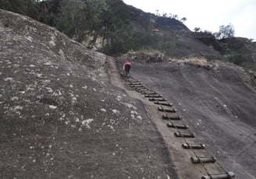
<path id="1" fill-rule="evenodd" d="M 221 167 L 234 171 L 236 178 L 253 179 L 256 176 L 256 91 L 250 85 L 251 79 L 242 68 L 233 65 L 215 63 L 206 67 L 184 61 L 133 61 L 131 75 L 174 104 L 177 114 L 183 116 L 183 124 L 190 126 L 190 131 L 206 145 Z M 165 121 L 159 120 L 162 119 L 155 122 L 165 135 L 167 129 L 161 128 L 164 126 L 161 122 Z M 180 144 L 175 145 L 172 134 L 175 130 L 168 130 L 165 141 L 169 140 L 177 168 L 186 170 L 179 163 L 190 163 L 193 153 L 184 152 Z M 182 160 L 177 154 L 183 155 Z M 213 171 L 210 164 L 206 167 Z"/>

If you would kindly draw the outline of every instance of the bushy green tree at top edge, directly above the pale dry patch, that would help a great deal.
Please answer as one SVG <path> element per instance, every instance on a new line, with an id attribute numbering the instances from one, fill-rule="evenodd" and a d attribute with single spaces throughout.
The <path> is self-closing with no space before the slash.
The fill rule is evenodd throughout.
<path id="1" fill-rule="evenodd" d="M 58 30 L 81 42 L 88 36 L 97 38 L 101 29 L 101 13 L 105 0 L 62 0 L 62 16 Z"/>

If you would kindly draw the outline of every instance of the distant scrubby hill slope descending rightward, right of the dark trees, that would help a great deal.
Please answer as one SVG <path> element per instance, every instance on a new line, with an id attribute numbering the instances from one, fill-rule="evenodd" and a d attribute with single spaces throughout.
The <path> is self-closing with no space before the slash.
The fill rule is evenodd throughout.
<path id="1" fill-rule="evenodd" d="M 219 51 L 209 48 L 177 19 L 155 16 L 126 5 L 127 23 L 133 28 L 140 49 L 158 50 L 169 58 L 213 56 L 221 58 Z"/>

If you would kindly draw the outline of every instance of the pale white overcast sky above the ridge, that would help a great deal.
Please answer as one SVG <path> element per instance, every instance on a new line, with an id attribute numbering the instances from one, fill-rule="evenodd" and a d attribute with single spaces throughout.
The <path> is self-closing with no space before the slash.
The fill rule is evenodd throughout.
<path id="1" fill-rule="evenodd" d="M 200 27 L 212 33 L 219 26 L 231 23 L 235 37 L 256 40 L 256 0 L 123 0 L 144 12 L 177 15 L 187 18 L 184 23 L 190 30 Z"/>

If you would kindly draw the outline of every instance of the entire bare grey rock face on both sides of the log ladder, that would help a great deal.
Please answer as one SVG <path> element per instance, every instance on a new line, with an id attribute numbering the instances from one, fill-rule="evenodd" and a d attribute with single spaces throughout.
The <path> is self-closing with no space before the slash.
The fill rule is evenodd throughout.
<path id="1" fill-rule="evenodd" d="M 202 58 L 115 59 L 4 10 L 0 32 L 1 178 L 255 178 L 254 72 Z M 120 69 L 126 60 L 130 79 Z M 159 111 L 151 92 L 176 111 Z M 205 148 L 183 149 L 186 142 Z"/>

